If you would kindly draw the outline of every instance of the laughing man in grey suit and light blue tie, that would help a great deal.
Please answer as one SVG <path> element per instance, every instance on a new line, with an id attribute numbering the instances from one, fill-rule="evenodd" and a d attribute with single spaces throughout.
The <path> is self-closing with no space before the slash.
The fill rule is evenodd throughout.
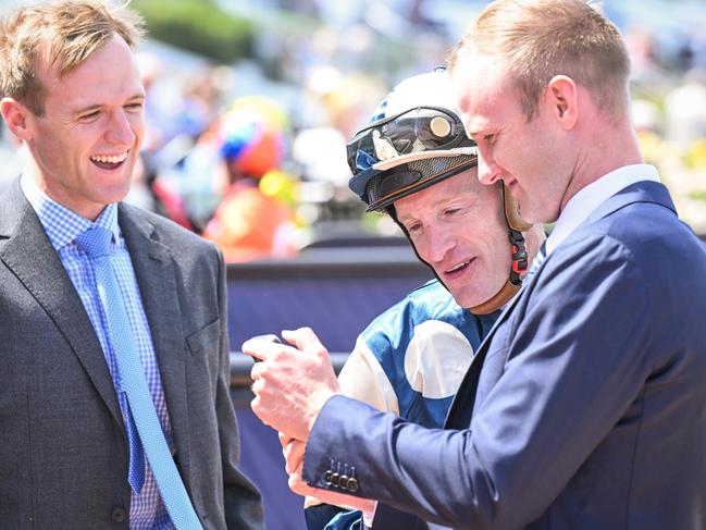
<path id="1" fill-rule="evenodd" d="M 120 201 L 145 93 L 126 8 L 2 25 L 1 111 L 26 169 L 0 196 L 0 526 L 257 529 L 213 245 Z"/>

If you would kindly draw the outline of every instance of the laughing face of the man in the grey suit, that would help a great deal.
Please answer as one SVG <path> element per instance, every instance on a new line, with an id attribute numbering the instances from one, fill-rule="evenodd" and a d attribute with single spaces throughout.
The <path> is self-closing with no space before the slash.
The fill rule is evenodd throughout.
<path id="1" fill-rule="evenodd" d="M 143 139 L 145 91 L 135 57 L 114 35 L 63 77 L 40 59 L 45 112 L 26 111 L 24 138 L 39 187 L 95 220 L 129 189 Z"/>

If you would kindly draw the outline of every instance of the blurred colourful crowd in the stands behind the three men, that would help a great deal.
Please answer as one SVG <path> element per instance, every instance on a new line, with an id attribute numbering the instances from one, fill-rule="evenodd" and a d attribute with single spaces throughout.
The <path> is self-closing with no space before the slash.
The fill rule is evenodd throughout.
<path id="1" fill-rule="evenodd" d="M 703 2 L 683 3 L 706 19 Z M 214 241 L 231 262 L 288 257 L 326 238 L 396 234 L 385 218 L 363 217 L 347 189 L 345 143 L 388 87 L 443 64 L 463 32 L 459 20 L 483 4 L 261 2 L 247 14 L 297 10 L 315 29 L 263 30 L 253 57 L 233 65 L 147 41 L 148 132 L 128 200 Z M 632 54 L 635 127 L 682 219 L 706 233 L 706 38 L 690 10 L 682 16 L 693 23 L 670 25 L 664 2 L 633 4 L 604 9 Z M 21 150 L 2 131 L 0 187 L 21 168 Z"/>

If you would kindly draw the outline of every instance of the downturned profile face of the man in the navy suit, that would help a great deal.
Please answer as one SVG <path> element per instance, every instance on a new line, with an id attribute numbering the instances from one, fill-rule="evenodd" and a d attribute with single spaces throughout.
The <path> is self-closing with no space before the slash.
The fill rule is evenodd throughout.
<path id="1" fill-rule="evenodd" d="M 554 222 L 573 174 L 569 146 L 548 95 L 528 121 L 506 77 L 496 60 L 478 54 L 465 58 L 454 74 L 463 125 L 478 143 L 479 178 L 503 180 L 527 221 Z"/>

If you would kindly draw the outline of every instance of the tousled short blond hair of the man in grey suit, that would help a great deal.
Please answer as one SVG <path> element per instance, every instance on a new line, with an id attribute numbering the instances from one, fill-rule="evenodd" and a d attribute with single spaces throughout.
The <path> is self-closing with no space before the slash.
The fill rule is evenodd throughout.
<path id="1" fill-rule="evenodd" d="M 132 48 L 144 35 L 141 17 L 100 0 L 58 0 L 20 8 L 0 23 L 0 96 L 35 114 L 44 113 L 44 87 L 36 69 L 40 53 L 63 76 L 119 35 Z"/>

